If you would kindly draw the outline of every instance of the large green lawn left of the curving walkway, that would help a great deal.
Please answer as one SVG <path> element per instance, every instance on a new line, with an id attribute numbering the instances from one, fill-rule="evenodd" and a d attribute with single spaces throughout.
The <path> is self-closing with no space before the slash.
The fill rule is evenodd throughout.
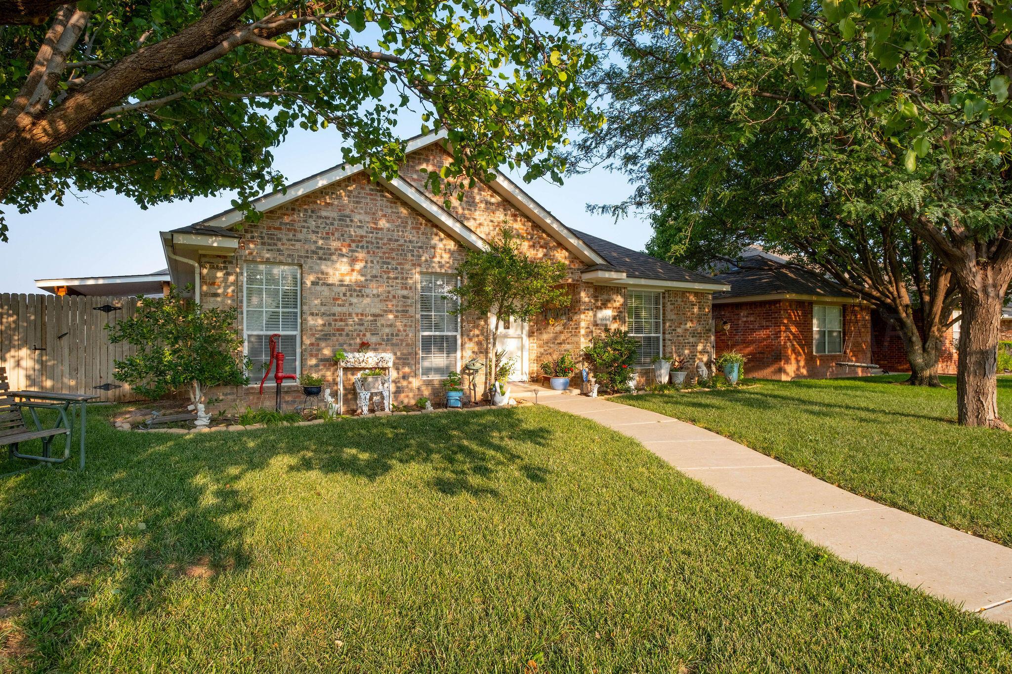
<path id="1" fill-rule="evenodd" d="M 7 665 L 1012 668 L 1004 625 L 543 407 L 188 437 L 116 431 L 101 414 L 84 475 L 0 481 Z"/>

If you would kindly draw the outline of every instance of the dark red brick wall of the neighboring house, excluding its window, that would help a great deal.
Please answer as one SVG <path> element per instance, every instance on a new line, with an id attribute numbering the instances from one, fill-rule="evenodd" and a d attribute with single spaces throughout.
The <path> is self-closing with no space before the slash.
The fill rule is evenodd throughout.
<path id="1" fill-rule="evenodd" d="M 771 300 L 713 305 L 716 355 L 735 350 L 748 361 L 747 376 L 762 379 L 821 379 L 858 374 L 837 362 L 869 363 L 871 317 L 867 307 L 843 305 L 843 354 L 816 354 L 812 302 Z M 730 323 L 722 330 L 722 321 Z M 863 372 L 863 371 L 862 371 Z M 866 374 L 866 372 L 863 372 Z"/>

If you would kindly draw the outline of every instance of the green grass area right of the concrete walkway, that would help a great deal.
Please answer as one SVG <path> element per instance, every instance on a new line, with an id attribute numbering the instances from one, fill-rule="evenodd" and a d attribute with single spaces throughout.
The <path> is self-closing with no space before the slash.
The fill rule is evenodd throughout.
<path id="1" fill-rule="evenodd" d="M 1012 546 L 1012 434 L 955 423 L 949 388 L 862 379 L 762 381 L 753 388 L 623 396 L 691 421 L 855 494 Z M 999 378 L 1012 418 L 1012 379 Z"/>

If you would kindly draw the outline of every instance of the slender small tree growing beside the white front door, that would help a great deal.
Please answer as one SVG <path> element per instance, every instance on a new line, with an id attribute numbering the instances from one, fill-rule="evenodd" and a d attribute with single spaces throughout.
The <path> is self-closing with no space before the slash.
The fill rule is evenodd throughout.
<path id="1" fill-rule="evenodd" d="M 566 264 L 538 262 L 521 250 L 509 227 L 499 230 L 483 251 L 471 251 L 457 269 L 460 284 L 449 290 L 457 300 L 457 315 L 474 311 L 486 320 L 486 379 L 495 385 L 498 371 L 496 352 L 502 319 L 527 321 L 547 305 L 562 305 L 568 299 L 560 284 L 566 278 Z M 495 316 L 492 318 L 492 316 Z"/>

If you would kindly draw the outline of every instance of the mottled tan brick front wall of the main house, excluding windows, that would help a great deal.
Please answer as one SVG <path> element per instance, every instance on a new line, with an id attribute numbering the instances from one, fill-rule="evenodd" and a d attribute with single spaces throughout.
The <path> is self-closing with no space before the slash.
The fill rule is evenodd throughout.
<path id="1" fill-rule="evenodd" d="M 421 169 L 438 170 L 445 161 L 444 151 L 430 147 L 410 155 L 402 175 L 421 186 Z M 512 227 L 532 258 L 557 260 L 567 267 L 570 307 L 536 316 L 528 326 L 527 369 L 532 377 L 539 375 L 542 361 L 564 352 L 579 359 L 595 329 L 600 329 L 594 324 L 597 308 L 611 308 L 612 326 L 624 326 L 624 289 L 580 281 L 584 263 L 487 186 L 463 194 L 461 201 L 452 201 L 450 210 L 480 235 L 489 238 L 502 226 Z M 423 380 L 418 374 L 420 275 L 454 273 L 466 254 L 462 246 L 410 205 L 358 174 L 274 208 L 259 222 L 246 223 L 234 256 L 202 256 L 201 300 L 210 306 L 237 306 L 242 329 L 243 265 L 297 265 L 302 274 L 299 360 L 304 372 L 320 375 L 325 386 L 335 387 L 337 368 L 331 360 L 335 350 L 354 350 L 365 340 L 373 351 L 394 353 L 395 402 L 412 403 L 422 395 L 438 400 L 439 381 Z M 708 295 L 666 292 L 664 312 L 665 350 L 697 358 L 705 355 Z M 460 364 L 476 356 L 484 358 L 485 317 L 462 316 L 460 331 Z M 287 356 L 285 369 L 296 372 L 296 358 Z M 351 408 L 352 391 L 346 377 L 346 409 Z M 285 405 L 302 401 L 298 385 L 287 385 L 284 392 Z M 213 395 L 222 398 L 218 408 L 231 411 L 246 405 L 269 406 L 273 393 L 271 381 L 263 398 L 256 386 L 220 388 Z"/>

